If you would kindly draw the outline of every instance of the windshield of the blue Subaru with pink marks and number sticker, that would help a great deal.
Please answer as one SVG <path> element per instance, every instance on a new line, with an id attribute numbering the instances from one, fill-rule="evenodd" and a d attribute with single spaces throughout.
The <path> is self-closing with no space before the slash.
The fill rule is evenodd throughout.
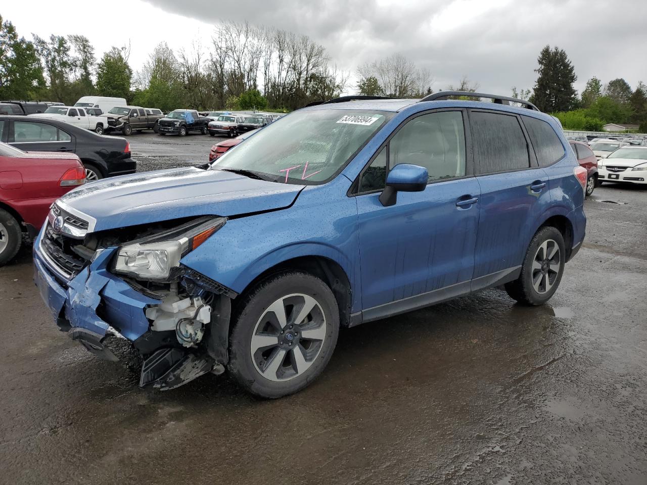
<path id="1" fill-rule="evenodd" d="M 391 116 L 339 109 L 296 111 L 225 153 L 212 168 L 254 171 L 285 183 L 325 182 Z"/>

